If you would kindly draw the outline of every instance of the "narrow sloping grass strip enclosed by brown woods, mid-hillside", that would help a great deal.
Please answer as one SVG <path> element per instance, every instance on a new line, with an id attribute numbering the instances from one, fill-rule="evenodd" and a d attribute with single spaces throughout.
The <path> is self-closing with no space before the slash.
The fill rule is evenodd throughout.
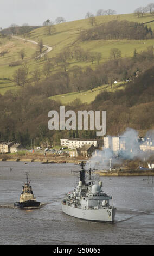
<path id="1" fill-rule="evenodd" d="M 95 97 L 103 92 L 104 90 L 107 90 L 107 92 L 115 92 L 119 89 L 124 89 L 124 84 L 117 83 L 112 86 L 112 88 L 108 84 L 104 84 L 103 86 L 99 86 L 97 88 L 93 89 L 93 92 L 91 90 L 81 91 L 79 92 L 73 92 L 73 93 L 67 93 L 67 94 L 61 94 L 61 95 L 55 95 L 52 97 L 49 97 L 49 99 L 59 101 L 62 105 L 71 104 L 74 100 L 81 100 L 82 103 L 91 103 L 95 100 Z"/>

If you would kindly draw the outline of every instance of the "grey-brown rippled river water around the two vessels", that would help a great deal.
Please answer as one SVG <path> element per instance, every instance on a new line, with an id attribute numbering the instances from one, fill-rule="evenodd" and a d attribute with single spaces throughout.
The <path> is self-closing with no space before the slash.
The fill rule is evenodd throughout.
<path id="1" fill-rule="evenodd" d="M 154 183 L 151 177 L 101 177 L 117 207 L 114 223 L 84 221 L 64 214 L 61 200 L 74 189 L 74 164 L 0 162 L 1 245 L 154 244 Z M 39 209 L 20 210 L 25 172 Z"/>

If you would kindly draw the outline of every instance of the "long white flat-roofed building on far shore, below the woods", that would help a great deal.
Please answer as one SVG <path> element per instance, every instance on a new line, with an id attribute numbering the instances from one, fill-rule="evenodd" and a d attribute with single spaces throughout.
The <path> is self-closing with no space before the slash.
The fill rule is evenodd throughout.
<path id="1" fill-rule="evenodd" d="M 62 147 L 70 149 L 81 148 L 84 145 L 94 145 L 96 148 L 99 146 L 97 139 L 78 139 L 78 138 L 63 138 L 60 140 Z"/>

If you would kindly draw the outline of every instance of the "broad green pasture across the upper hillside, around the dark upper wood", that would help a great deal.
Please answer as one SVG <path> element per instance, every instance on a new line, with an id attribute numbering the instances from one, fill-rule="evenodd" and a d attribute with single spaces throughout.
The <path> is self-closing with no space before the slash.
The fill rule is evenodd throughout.
<path id="1" fill-rule="evenodd" d="M 154 20 L 154 16 L 150 14 L 146 14 L 143 18 L 138 18 L 134 14 L 123 14 L 123 15 L 108 15 L 108 16 L 99 16 L 96 17 L 97 24 L 101 24 L 104 22 L 108 22 L 111 20 L 129 20 L 129 21 L 136 21 L 139 23 L 148 22 Z M 47 35 L 46 28 L 41 27 L 31 31 L 29 37 L 25 37 L 25 39 L 31 39 L 34 41 L 39 42 L 40 39 L 43 40 L 44 44 L 53 47 L 53 51 L 48 53 L 48 58 L 52 58 L 56 56 L 57 53 L 61 52 L 64 47 L 71 48 L 80 46 L 84 48 L 84 50 L 94 51 L 94 52 L 101 52 L 102 59 L 100 63 L 105 62 L 108 57 L 110 56 L 111 48 L 119 48 L 122 52 L 122 57 L 130 57 L 133 56 L 134 49 L 138 52 L 146 49 L 147 46 L 154 44 L 154 39 L 151 40 L 95 40 L 95 41 L 88 41 L 82 42 L 78 40 L 78 36 L 80 31 L 83 29 L 91 28 L 89 23 L 89 19 L 72 21 L 72 22 L 65 22 L 61 23 L 56 26 L 56 33 L 53 35 Z M 154 22 L 148 23 L 147 26 L 151 26 L 154 29 Z M 27 62 L 29 68 L 28 78 L 31 78 L 33 71 L 38 69 L 42 71 L 43 65 L 45 63 L 44 57 L 36 62 L 32 57 L 36 52 L 37 45 L 32 44 L 30 42 L 24 42 L 20 39 L 15 38 L 2 38 L 0 37 L 0 53 L 3 50 L 8 50 L 8 53 L 5 54 L 4 57 L 0 57 L 0 93 L 4 94 L 9 89 L 18 89 L 11 81 L 12 75 L 15 70 L 17 70 L 20 66 L 10 67 L 9 64 L 11 62 L 15 62 L 17 60 L 21 60 L 19 57 L 18 52 L 24 48 L 25 51 L 25 58 L 22 61 L 24 63 Z M 94 62 L 92 65 L 91 62 L 70 62 L 68 65 L 68 69 L 73 65 L 79 65 L 82 68 L 86 66 L 91 66 L 91 68 L 95 68 L 97 63 Z M 57 68 L 55 67 L 52 72 L 56 72 Z M 41 77 L 43 78 L 43 74 L 41 73 Z M 78 94 L 78 93 L 76 93 Z M 70 94 L 71 95 L 71 94 Z M 58 96 L 57 96 L 58 97 Z M 74 96 L 73 96 L 74 97 Z M 83 99 L 82 99 L 83 100 Z"/>

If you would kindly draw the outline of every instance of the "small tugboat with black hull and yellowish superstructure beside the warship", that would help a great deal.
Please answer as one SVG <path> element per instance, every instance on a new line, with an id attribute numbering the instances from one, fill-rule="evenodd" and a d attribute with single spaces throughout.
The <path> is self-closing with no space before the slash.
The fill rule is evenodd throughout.
<path id="1" fill-rule="evenodd" d="M 24 186 L 22 186 L 23 188 L 20 196 L 20 202 L 14 203 L 15 207 L 38 208 L 40 206 L 40 202 L 36 201 L 36 198 L 29 184 L 30 184 L 30 181 L 28 182 L 28 173 L 26 173 L 26 183 L 24 184 Z"/>

